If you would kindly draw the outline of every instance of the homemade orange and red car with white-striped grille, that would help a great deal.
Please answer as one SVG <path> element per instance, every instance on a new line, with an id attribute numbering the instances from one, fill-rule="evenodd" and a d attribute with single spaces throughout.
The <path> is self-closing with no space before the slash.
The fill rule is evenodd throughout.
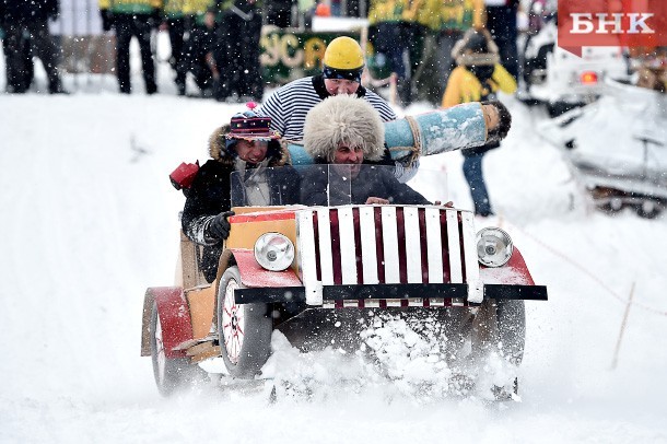
<path id="1" fill-rule="evenodd" d="M 324 205 L 242 207 L 233 196 L 238 206 L 213 282 L 199 272 L 200 247 L 182 235 L 176 283 L 149 288 L 143 304 L 141 355 L 152 357 L 161 394 L 189 384 L 202 373 L 198 363 L 218 357 L 230 376 L 256 378 L 273 330 L 301 346 L 323 331 L 344 334 L 321 315 L 346 311 L 429 311 L 443 323 L 456 312 L 465 315 L 459 331 L 473 349 L 484 331 L 485 343 L 502 344 L 502 354 L 520 363 L 524 301 L 547 300 L 547 289 L 534 283 L 507 233 L 476 233 L 470 211 L 402 205 L 403 188 L 389 189 L 394 176 L 384 167 L 313 167 L 311 175 L 294 170 L 302 200 L 315 196 Z M 424 179 L 422 170 L 410 184 L 423 184 L 422 194 L 434 199 L 429 195 L 444 189 L 436 187 L 443 174 Z M 381 173 L 389 203 L 366 205 L 364 192 L 372 191 L 356 183 Z M 306 179 L 313 174 L 317 184 Z"/>

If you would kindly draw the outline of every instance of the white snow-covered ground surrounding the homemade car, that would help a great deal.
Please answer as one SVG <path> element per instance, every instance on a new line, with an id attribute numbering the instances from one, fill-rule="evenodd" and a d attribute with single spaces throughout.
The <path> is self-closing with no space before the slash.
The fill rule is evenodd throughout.
<path id="1" fill-rule="evenodd" d="M 335 349 L 299 355 L 280 338 L 280 372 L 321 383 L 311 400 L 269 405 L 261 392 L 212 385 L 161 398 L 139 346 L 143 292 L 174 276 L 184 197 L 167 175 L 204 160 L 210 132 L 242 108 L 169 95 L 166 74 L 167 94 L 150 97 L 117 95 L 109 79 L 100 94 L 0 95 L 1 443 L 667 442 L 667 217 L 590 210 L 535 132 L 545 115 L 512 98 L 510 137 L 485 157 L 491 222 L 550 297 L 527 303 L 522 402 L 430 398 L 382 381 L 340 387 L 374 375 Z M 426 163 L 471 208 L 460 154 Z"/>

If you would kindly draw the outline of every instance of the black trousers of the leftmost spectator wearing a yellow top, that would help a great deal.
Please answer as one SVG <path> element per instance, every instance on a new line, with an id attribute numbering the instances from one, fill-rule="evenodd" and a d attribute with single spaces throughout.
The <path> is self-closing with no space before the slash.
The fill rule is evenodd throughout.
<path id="1" fill-rule="evenodd" d="M 155 65 L 151 50 L 151 24 L 149 23 L 149 16 L 145 14 L 118 14 L 114 17 L 114 21 L 116 28 L 116 71 L 120 92 L 125 94 L 131 92 L 130 40 L 132 37 L 137 37 L 139 42 L 145 92 L 148 94 L 157 92 Z"/>

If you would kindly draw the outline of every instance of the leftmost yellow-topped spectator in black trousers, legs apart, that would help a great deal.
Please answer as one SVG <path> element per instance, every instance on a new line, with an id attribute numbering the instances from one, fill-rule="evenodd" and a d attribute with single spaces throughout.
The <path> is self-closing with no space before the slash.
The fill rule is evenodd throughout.
<path id="1" fill-rule="evenodd" d="M 155 62 L 151 48 L 151 30 L 162 19 L 162 0 L 100 0 L 104 31 L 116 30 L 116 74 L 122 94 L 130 94 L 130 42 L 137 37 L 147 94 L 155 94 Z"/>

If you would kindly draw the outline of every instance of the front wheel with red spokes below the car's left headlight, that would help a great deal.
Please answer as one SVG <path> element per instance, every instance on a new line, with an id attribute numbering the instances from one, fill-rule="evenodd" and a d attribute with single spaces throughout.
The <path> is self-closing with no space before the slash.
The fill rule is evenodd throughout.
<path id="1" fill-rule="evenodd" d="M 225 270 L 218 285 L 218 336 L 227 372 L 253 379 L 271 352 L 273 320 L 269 304 L 234 302 L 234 289 L 242 289 L 238 267 Z"/>

